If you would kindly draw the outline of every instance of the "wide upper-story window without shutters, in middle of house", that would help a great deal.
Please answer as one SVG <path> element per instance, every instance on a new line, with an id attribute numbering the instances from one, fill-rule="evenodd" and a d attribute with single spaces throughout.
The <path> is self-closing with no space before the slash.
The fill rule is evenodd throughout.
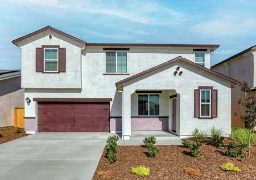
<path id="1" fill-rule="evenodd" d="M 106 52 L 106 73 L 127 73 L 127 52 Z"/>

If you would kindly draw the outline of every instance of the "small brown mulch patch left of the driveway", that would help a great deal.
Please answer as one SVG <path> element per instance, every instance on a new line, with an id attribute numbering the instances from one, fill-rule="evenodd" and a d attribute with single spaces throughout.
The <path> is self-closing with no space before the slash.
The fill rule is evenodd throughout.
<path id="1" fill-rule="evenodd" d="M 28 135 L 25 133 L 24 128 L 22 128 L 22 132 L 20 133 L 16 133 L 16 129 L 16 127 L 0 128 L 0 134 L 2 135 L 2 137 L 0 137 L 0 144 Z"/>

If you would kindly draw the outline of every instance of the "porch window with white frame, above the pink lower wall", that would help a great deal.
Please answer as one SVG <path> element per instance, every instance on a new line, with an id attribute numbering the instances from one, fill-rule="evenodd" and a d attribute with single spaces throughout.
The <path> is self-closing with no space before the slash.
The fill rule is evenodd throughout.
<path id="1" fill-rule="evenodd" d="M 159 115 L 159 95 L 138 95 L 138 115 Z"/>

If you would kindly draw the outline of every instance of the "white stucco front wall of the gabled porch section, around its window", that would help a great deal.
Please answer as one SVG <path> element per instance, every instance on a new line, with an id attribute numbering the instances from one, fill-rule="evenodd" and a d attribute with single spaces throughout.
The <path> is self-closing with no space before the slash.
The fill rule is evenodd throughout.
<path id="1" fill-rule="evenodd" d="M 181 76 L 174 76 L 176 67 L 180 66 L 183 71 Z M 218 117 L 214 119 L 198 119 L 194 118 L 194 89 L 199 86 L 213 86 L 218 89 Z M 123 126 L 126 131 L 124 136 L 130 135 L 130 102 L 129 97 L 136 89 L 175 89 L 180 96 L 179 108 L 180 119 L 179 135 L 191 135 L 191 132 L 197 127 L 201 130 L 208 131 L 214 126 L 222 128 L 224 135 L 230 135 L 231 132 L 231 89 L 230 83 L 216 76 L 210 75 L 208 72 L 198 70 L 185 63 L 174 63 L 164 67 L 161 70 L 151 72 L 142 78 L 137 78 L 124 84 L 123 87 Z"/>

